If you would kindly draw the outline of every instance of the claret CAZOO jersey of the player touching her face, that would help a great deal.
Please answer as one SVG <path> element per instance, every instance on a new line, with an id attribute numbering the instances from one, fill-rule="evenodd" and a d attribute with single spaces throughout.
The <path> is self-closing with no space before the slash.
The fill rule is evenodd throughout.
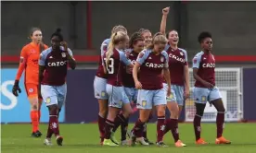
<path id="1" fill-rule="evenodd" d="M 50 47 L 40 54 L 39 65 L 45 66 L 42 85 L 61 86 L 65 84 L 68 72 L 68 58 L 63 48 L 60 51 L 59 53 L 54 53 Z M 68 49 L 68 52 L 72 57 L 70 49 Z"/>

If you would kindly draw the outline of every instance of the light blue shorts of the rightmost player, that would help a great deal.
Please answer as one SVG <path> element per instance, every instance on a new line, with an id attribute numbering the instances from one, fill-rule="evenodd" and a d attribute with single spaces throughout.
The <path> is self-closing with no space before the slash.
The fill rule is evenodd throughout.
<path id="1" fill-rule="evenodd" d="M 206 103 L 212 100 L 222 99 L 219 88 L 193 88 L 193 97 L 196 103 Z"/>

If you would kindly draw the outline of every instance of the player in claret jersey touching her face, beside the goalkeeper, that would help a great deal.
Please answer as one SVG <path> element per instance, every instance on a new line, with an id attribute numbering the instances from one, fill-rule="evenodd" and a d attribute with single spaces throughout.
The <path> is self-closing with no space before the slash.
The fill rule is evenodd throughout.
<path id="1" fill-rule="evenodd" d="M 66 76 L 68 65 L 71 69 L 76 66 L 67 42 L 63 41 L 60 29 L 51 36 L 52 47 L 40 54 L 39 60 L 39 93 L 42 94 L 45 105 L 49 110 L 49 124 L 45 145 L 52 145 L 51 136 L 56 135 L 58 146 L 62 146 L 63 137 L 59 135 L 58 114 L 66 100 Z M 62 45 L 62 46 L 60 46 Z"/>

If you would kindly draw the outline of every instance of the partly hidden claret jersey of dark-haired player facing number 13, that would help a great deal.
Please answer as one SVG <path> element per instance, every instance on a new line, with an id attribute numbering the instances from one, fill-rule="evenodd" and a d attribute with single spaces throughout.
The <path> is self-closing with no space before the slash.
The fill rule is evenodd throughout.
<path id="1" fill-rule="evenodd" d="M 127 50 L 125 52 L 126 57 L 133 63 L 135 64 L 138 53 L 135 53 L 133 50 Z M 127 66 L 123 66 L 122 67 L 122 83 L 123 83 L 123 87 L 126 88 L 135 88 L 134 85 L 134 77 L 133 77 L 133 73 L 129 71 L 130 67 Z"/>

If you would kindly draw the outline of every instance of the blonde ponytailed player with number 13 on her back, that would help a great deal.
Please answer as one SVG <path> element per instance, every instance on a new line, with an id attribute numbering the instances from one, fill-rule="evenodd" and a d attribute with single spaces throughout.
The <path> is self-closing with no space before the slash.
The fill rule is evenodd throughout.
<path id="1" fill-rule="evenodd" d="M 122 64 L 133 67 L 123 53 L 129 37 L 126 33 L 119 31 L 113 33 L 109 42 L 108 51 L 104 53 L 104 67 L 108 74 L 107 94 L 109 96 L 109 114 L 105 124 L 105 138 L 103 145 L 118 146 L 119 143 L 112 138 L 113 128 L 118 128 L 122 123 L 126 123 L 127 118 L 133 112 L 130 101 L 127 98 L 122 86 Z M 120 110 L 122 109 L 122 113 Z"/>

